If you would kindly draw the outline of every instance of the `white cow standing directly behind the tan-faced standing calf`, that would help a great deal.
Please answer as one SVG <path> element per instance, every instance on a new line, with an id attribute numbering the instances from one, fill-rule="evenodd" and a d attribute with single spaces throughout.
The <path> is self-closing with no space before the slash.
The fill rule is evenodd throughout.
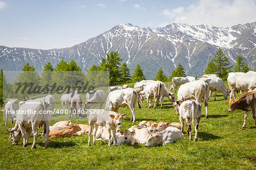
<path id="1" fill-rule="evenodd" d="M 131 119 L 130 122 L 135 122 L 135 105 L 136 101 L 138 104 L 138 108 L 141 108 L 138 100 L 138 93 L 134 90 L 134 88 L 126 88 L 122 90 L 115 90 L 109 93 L 108 99 L 106 101 L 106 111 L 114 111 L 118 112 L 120 107 L 128 106 L 131 111 Z"/>

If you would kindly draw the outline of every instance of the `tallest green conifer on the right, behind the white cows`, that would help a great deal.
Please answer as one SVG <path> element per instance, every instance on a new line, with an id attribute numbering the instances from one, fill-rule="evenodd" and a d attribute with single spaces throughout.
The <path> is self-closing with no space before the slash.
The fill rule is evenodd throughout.
<path id="1" fill-rule="evenodd" d="M 228 70 L 230 70 L 231 67 L 229 67 L 228 57 L 225 56 L 221 48 L 219 48 L 218 51 L 216 52 L 216 55 L 213 58 L 213 62 L 217 67 L 216 74 L 220 78 L 226 79 Z"/>

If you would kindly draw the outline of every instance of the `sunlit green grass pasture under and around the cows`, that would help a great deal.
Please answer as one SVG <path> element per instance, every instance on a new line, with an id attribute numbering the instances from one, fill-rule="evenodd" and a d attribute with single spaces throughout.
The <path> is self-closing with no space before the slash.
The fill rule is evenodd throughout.
<path id="1" fill-rule="evenodd" d="M 228 86 L 226 86 L 228 87 Z M 84 99 L 84 98 L 83 98 Z M 246 128 L 242 129 L 242 111 L 228 112 L 229 100 L 218 94 L 209 100 L 209 118 L 205 119 L 202 107 L 202 118 L 199 124 L 199 140 L 184 139 L 166 146 L 146 148 L 144 144 L 121 145 L 108 147 L 107 141 L 96 141 L 95 146 L 88 146 L 88 135 L 71 138 L 57 138 L 49 141 L 44 148 L 45 138 L 39 137 L 36 149 L 30 145 L 22 147 L 22 141 L 13 146 L 8 141 L 6 129 L 13 127 L 10 122 L 0 125 L 0 168 L 1 169 L 256 169 L 256 127 L 253 117 L 248 114 Z M 59 106 L 60 107 L 60 106 Z M 142 120 L 159 122 L 179 122 L 171 102 L 164 98 L 163 107 L 147 109 L 146 101 L 142 108 L 135 108 L 136 123 L 129 123 L 131 112 L 120 108 L 119 112 L 127 113 L 122 121 L 123 130 L 136 125 Z M 0 118 L 2 119 L 2 112 Z M 51 125 L 56 121 L 52 121 Z M 87 121 L 72 123 L 88 124 Z M 194 129 L 194 128 L 193 128 Z M 185 128 L 184 131 L 186 131 Z M 193 135 L 195 132 L 193 130 Z"/>

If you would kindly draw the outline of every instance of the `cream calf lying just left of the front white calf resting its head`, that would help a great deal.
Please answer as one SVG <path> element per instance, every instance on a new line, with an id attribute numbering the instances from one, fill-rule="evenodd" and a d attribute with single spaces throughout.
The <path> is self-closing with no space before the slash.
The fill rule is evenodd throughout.
<path id="1" fill-rule="evenodd" d="M 135 131 L 135 141 L 137 143 L 145 143 L 147 135 L 149 133 L 155 133 L 155 128 L 157 124 L 153 121 L 142 121 L 137 126 L 131 126 L 130 131 Z"/>

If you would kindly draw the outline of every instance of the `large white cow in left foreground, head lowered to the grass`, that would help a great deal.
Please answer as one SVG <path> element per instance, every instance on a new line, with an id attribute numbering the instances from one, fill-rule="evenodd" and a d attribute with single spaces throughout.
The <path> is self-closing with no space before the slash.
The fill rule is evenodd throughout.
<path id="1" fill-rule="evenodd" d="M 49 110 L 49 104 L 46 103 L 43 98 L 26 101 L 26 103 L 22 104 L 16 116 L 15 127 L 7 130 L 13 137 L 13 145 L 18 145 L 20 139 L 23 138 L 23 147 L 26 147 L 28 145 L 28 138 L 31 133 L 33 133 L 34 141 L 31 148 L 36 148 L 35 144 L 36 138 L 38 137 L 38 127 L 44 125 L 44 134 L 46 136 L 45 147 L 48 147 L 51 114 L 48 112 L 44 113 L 44 111 Z M 30 114 L 29 111 L 34 111 L 34 114 Z"/>

